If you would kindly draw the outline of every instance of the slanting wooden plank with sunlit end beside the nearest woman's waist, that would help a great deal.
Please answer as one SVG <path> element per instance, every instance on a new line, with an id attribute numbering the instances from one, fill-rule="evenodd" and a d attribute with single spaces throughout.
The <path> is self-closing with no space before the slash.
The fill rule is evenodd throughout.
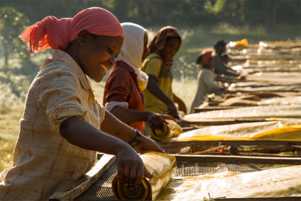
<path id="1" fill-rule="evenodd" d="M 54 193 L 49 201 L 74 200 L 94 184 L 114 162 L 114 155 L 103 154 L 100 160 L 83 177 L 70 184 L 66 189 Z"/>

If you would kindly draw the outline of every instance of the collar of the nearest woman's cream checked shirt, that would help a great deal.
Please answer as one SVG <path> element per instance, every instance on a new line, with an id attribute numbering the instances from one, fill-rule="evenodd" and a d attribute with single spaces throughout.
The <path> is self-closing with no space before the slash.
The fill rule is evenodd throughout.
<path id="1" fill-rule="evenodd" d="M 66 63 L 68 67 L 70 67 L 78 75 L 84 89 L 92 89 L 89 78 L 83 72 L 78 63 L 67 52 L 58 49 L 54 50 L 52 58 Z"/>

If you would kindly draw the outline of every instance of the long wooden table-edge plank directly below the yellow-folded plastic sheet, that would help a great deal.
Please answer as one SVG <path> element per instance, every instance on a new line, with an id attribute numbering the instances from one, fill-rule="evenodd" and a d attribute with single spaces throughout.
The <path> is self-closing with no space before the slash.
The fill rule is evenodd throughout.
<path id="1" fill-rule="evenodd" d="M 300 141 L 276 140 L 208 140 L 188 142 L 157 142 L 161 148 L 200 147 L 200 146 L 301 146 Z"/>

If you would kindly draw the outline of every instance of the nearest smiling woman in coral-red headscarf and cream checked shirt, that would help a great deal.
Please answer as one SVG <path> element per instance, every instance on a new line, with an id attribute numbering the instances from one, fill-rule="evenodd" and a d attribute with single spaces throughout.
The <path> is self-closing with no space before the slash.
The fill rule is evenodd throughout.
<path id="1" fill-rule="evenodd" d="M 45 17 L 20 38 L 31 53 L 54 52 L 28 91 L 13 166 L 0 173 L 0 200 L 48 200 L 90 170 L 95 151 L 116 155 L 122 182 L 152 177 L 136 151 L 164 151 L 107 112 L 88 79 L 100 82 L 115 65 L 124 40 L 118 19 L 92 7 L 73 18 Z"/>

